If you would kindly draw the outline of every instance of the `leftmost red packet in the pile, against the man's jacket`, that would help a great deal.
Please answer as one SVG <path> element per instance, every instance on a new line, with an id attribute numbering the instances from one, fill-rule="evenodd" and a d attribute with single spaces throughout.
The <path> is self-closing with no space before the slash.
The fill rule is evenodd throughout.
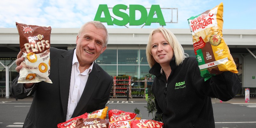
<path id="1" fill-rule="evenodd" d="M 84 113 L 81 116 L 71 118 L 66 122 L 58 124 L 57 127 L 58 128 L 75 128 L 76 127 L 76 122 L 77 122 L 78 119 L 84 119 L 85 120 L 85 119 L 87 119 L 87 117 L 88 117 L 88 113 Z"/>

